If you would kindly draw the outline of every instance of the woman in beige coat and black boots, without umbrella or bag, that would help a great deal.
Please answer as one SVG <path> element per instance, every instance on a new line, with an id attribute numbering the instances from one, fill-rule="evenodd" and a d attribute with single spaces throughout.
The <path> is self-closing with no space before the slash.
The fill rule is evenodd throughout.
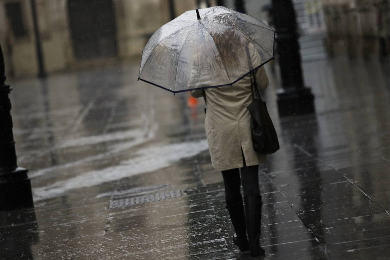
<path id="1" fill-rule="evenodd" d="M 248 52 L 252 64 L 261 64 L 259 53 L 251 43 Z M 233 242 L 241 251 L 249 249 L 251 256 L 259 256 L 264 254 L 264 249 L 259 241 L 262 200 L 258 173 L 259 164 L 266 160 L 266 155 L 255 152 L 252 144 L 251 115 L 246 108 L 252 103 L 252 81 L 256 82 L 255 87 L 259 90 L 268 87 L 264 67 L 245 76 L 232 87 L 193 90 L 191 95 L 204 97 L 206 101 L 207 143 L 215 170 L 222 172 L 226 208 L 235 231 Z"/>

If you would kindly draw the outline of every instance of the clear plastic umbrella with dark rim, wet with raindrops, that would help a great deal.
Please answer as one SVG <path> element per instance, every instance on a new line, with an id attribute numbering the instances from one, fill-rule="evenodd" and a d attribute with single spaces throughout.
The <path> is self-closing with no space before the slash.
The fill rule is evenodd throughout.
<path id="1" fill-rule="evenodd" d="M 174 93 L 229 86 L 271 60 L 274 41 L 268 25 L 226 7 L 187 11 L 149 39 L 138 79 Z"/>

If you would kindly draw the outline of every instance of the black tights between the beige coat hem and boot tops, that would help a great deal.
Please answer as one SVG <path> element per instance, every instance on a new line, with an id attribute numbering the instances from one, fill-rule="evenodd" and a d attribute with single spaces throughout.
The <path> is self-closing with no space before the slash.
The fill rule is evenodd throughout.
<path id="1" fill-rule="evenodd" d="M 241 180 L 239 169 L 222 171 L 223 183 L 225 184 L 225 198 L 236 200 L 241 198 L 241 182 L 243 184 L 244 195 L 260 195 L 259 188 L 259 165 L 246 166 L 241 168 Z"/>

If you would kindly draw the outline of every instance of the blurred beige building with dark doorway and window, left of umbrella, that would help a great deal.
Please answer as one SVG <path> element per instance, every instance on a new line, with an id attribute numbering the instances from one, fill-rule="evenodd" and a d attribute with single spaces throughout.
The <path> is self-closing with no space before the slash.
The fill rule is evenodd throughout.
<path id="1" fill-rule="evenodd" d="M 169 2 L 35 0 L 46 72 L 140 55 L 149 37 L 170 20 Z M 197 0 L 173 3 L 178 15 L 195 9 Z M 20 78 L 37 74 L 31 0 L 0 0 L 0 41 L 7 75 Z"/>

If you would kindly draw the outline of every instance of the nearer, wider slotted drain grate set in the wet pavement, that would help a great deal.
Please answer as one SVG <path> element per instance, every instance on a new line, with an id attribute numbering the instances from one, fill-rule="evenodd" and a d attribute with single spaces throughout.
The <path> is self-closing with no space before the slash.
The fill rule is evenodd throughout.
<path id="1" fill-rule="evenodd" d="M 176 191 L 165 191 L 154 194 L 147 194 L 144 196 L 137 196 L 131 198 L 123 198 L 120 200 L 110 200 L 109 209 L 120 209 L 132 205 L 144 204 L 149 202 L 156 202 L 160 200 L 168 200 L 171 198 L 179 198 L 183 196 L 183 191 L 178 189 Z"/>

